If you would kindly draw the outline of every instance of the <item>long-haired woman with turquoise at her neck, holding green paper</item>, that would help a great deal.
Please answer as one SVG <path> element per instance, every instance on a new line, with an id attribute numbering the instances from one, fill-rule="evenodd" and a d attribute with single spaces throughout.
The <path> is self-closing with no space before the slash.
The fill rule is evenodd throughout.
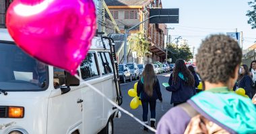
<path id="1" fill-rule="evenodd" d="M 176 60 L 175 68 L 170 74 L 166 90 L 172 92 L 170 104 L 173 103 L 174 107 L 185 103 L 194 94 L 194 77 L 187 69 L 184 60 Z"/>

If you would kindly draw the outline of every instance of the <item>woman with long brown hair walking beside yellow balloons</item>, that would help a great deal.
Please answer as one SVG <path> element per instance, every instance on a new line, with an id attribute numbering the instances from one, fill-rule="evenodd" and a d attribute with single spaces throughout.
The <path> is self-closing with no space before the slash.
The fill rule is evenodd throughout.
<path id="1" fill-rule="evenodd" d="M 162 94 L 152 64 L 146 64 L 142 72 L 142 76 L 137 84 L 137 96 L 139 96 L 142 104 L 143 122 L 148 125 L 148 105 L 150 105 L 150 125 L 156 129 L 156 100 L 159 99 L 162 103 Z M 148 128 L 144 126 L 143 131 L 148 131 Z"/>

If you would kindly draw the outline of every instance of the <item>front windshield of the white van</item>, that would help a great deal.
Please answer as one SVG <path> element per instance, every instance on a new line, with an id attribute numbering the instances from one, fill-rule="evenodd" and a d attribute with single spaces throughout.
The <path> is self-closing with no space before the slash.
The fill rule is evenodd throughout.
<path id="1" fill-rule="evenodd" d="M 0 89 L 44 90 L 48 83 L 46 64 L 31 58 L 14 43 L 0 42 Z"/>

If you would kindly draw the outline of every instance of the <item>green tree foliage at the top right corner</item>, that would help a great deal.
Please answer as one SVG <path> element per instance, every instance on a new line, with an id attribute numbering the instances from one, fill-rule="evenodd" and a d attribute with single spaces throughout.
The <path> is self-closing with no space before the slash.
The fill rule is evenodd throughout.
<path id="1" fill-rule="evenodd" d="M 256 28 L 256 0 L 254 1 L 249 1 L 248 5 L 252 7 L 252 10 L 247 11 L 247 16 L 249 16 L 249 20 L 247 21 L 249 24 L 251 24 L 251 28 L 255 29 Z"/>

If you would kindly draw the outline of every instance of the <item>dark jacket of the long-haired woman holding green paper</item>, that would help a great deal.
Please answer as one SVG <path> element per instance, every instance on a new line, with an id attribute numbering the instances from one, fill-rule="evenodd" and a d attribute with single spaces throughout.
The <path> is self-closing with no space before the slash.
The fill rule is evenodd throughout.
<path id="1" fill-rule="evenodd" d="M 185 80 L 178 76 L 176 83 L 172 82 L 172 74 L 168 81 L 170 86 L 166 87 L 166 90 L 172 92 L 170 104 L 172 103 L 185 103 L 194 94 L 194 87 L 185 84 Z"/>

